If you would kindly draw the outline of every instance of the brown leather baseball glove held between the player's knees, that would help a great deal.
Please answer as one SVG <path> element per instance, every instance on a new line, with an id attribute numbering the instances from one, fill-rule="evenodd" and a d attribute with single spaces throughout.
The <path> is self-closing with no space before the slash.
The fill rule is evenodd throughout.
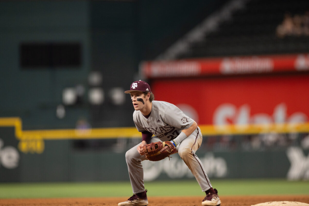
<path id="1" fill-rule="evenodd" d="M 168 148 L 160 152 L 160 150 L 166 145 L 168 146 Z M 148 160 L 159 161 L 166 157 L 170 158 L 171 154 L 176 153 L 176 148 L 170 141 L 152 142 L 150 144 L 144 145 L 142 147 L 142 151 L 144 152 L 144 156 Z"/>

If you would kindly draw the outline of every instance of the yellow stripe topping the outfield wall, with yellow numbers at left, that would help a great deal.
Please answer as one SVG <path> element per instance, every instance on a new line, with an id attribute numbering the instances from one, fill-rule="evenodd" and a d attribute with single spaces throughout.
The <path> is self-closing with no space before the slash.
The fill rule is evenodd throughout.
<path id="1" fill-rule="evenodd" d="M 44 140 L 141 138 L 141 133 L 135 127 L 23 130 L 22 120 L 19 117 L 0 118 L 0 127 L 15 128 L 15 137 L 20 140 L 19 150 L 25 153 L 42 153 L 44 151 Z M 297 124 L 200 125 L 199 127 L 205 136 L 309 132 L 309 122 Z"/>

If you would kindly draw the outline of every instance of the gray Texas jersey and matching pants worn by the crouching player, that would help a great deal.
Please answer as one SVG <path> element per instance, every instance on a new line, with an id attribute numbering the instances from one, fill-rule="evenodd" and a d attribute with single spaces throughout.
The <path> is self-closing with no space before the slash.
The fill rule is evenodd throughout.
<path id="1" fill-rule="evenodd" d="M 148 131 L 156 136 L 152 137 L 149 142 L 156 142 L 158 138 L 161 141 L 175 139 L 181 130 L 189 128 L 194 122 L 178 107 L 163 101 L 152 101 L 152 110 L 148 118 L 143 116 L 141 111 L 135 110 L 133 120 L 139 132 Z M 202 191 L 207 191 L 212 185 L 201 160 L 195 154 L 201 143 L 202 135 L 200 128 L 197 127 L 192 134 L 181 141 L 181 144 L 177 145 L 177 148 L 180 158 L 191 170 Z M 147 158 L 138 153 L 139 145 L 140 143 L 125 154 L 134 194 L 145 191 L 142 161 Z"/>

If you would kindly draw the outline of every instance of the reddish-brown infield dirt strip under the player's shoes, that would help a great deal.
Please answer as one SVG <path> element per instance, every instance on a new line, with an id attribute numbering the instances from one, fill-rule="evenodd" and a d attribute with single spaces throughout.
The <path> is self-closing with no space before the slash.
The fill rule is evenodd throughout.
<path id="1" fill-rule="evenodd" d="M 203 197 L 148 197 L 149 206 L 201 206 Z M 220 196 L 221 206 L 251 206 L 270 201 L 309 203 L 309 195 Z M 117 206 L 125 198 L 0 199 L 0 206 Z"/>

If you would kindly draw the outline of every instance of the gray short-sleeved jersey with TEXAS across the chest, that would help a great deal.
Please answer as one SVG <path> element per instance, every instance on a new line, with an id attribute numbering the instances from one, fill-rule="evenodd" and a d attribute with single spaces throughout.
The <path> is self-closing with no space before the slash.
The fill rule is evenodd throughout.
<path id="1" fill-rule="evenodd" d="M 139 132 L 148 131 L 161 141 L 176 138 L 181 130 L 189 128 L 194 122 L 178 107 L 163 101 L 152 101 L 151 114 L 148 119 L 141 111 L 134 111 L 133 120 Z"/>

